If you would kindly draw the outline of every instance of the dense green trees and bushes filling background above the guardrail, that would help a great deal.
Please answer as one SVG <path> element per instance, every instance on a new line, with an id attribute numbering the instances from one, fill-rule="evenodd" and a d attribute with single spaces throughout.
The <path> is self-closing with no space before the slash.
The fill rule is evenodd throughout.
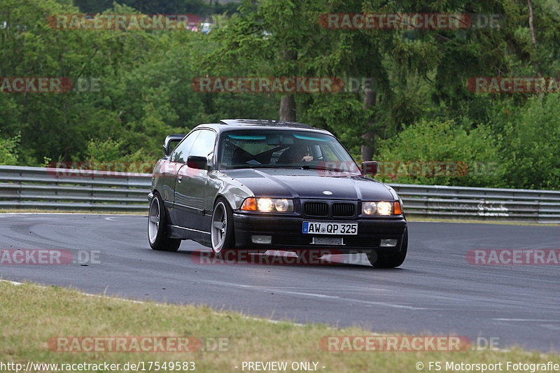
<path id="1" fill-rule="evenodd" d="M 235 7 L 202 0 L 1 1 L 0 76 L 67 77 L 74 87 L 0 92 L 0 163 L 154 161 L 167 134 L 199 123 L 283 117 L 330 130 L 358 160 L 404 162 L 398 172 L 381 174 L 386 181 L 559 189 L 559 95 L 476 93 L 466 84 L 476 76 L 557 76 L 557 1 L 246 0 Z M 50 15 L 80 12 L 215 14 L 208 34 L 48 23 Z M 319 22 L 324 13 L 498 14 L 500 27 L 328 29 Z M 193 78 L 204 76 L 328 76 L 345 87 L 195 92 Z M 409 162 L 443 161 L 467 169 L 407 172 Z"/>

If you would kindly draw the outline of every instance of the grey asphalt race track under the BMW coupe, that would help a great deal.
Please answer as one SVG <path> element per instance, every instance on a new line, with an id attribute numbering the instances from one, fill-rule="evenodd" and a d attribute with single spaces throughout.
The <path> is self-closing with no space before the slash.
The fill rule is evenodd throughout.
<path id="1" fill-rule="evenodd" d="M 363 255 L 343 265 L 198 264 L 203 248 L 148 246 L 146 216 L 0 214 L 0 249 L 94 252 L 87 266 L 0 265 L 0 278 L 74 286 L 86 293 L 209 304 L 299 323 L 360 325 L 375 332 L 483 337 L 560 351 L 560 265 L 472 265 L 479 248 L 560 248 L 559 227 L 409 223 L 399 269 Z M 337 259 L 338 258 L 338 259 Z M 84 256 L 82 255 L 82 259 Z"/>

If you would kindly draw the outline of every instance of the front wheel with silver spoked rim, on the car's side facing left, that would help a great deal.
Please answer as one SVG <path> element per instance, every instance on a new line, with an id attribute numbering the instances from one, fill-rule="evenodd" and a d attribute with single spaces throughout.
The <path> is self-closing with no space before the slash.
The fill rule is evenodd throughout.
<path id="1" fill-rule="evenodd" d="M 223 197 L 216 199 L 210 226 L 212 252 L 221 256 L 235 247 L 233 237 L 233 213 L 228 201 Z"/>

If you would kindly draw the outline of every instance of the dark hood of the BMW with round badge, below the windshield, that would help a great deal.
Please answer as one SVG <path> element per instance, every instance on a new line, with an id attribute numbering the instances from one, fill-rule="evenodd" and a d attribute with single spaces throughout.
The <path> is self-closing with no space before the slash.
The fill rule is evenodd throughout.
<path id="1" fill-rule="evenodd" d="M 222 172 L 244 184 L 255 197 L 394 200 L 383 183 L 345 172 L 307 169 L 229 169 Z M 325 195 L 324 191 L 332 195 Z"/>

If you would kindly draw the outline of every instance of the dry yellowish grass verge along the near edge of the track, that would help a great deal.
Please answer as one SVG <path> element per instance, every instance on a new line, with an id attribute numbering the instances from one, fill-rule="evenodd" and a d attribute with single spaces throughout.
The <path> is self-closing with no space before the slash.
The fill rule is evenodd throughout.
<path id="1" fill-rule="evenodd" d="M 188 290 L 187 290 L 188 291 Z M 559 356 L 510 351 L 438 352 L 327 352 L 319 348 L 321 337 L 372 335 L 360 328 L 327 325 L 271 323 L 235 312 L 216 312 L 194 305 L 131 302 L 111 297 L 88 296 L 75 290 L 0 281 L 0 362 L 34 363 L 137 363 L 139 361 L 193 361 L 196 372 L 243 372 L 243 361 L 318 362 L 319 372 L 418 372 L 416 364 L 429 361 L 465 363 L 546 363 Z M 168 336 L 228 338 L 223 351 L 188 353 L 55 352 L 48 348 L 53 337 Z M 235 368 L 235 367 L 239 368 Z M 322 367 L 325 367 L 324 369 Z M 51 372 L 52 370 L 42 370 Z M 122 371 L 122 370 L 121 370 Z M 145 370 L 147 372 L 155 371 Z M 169 370 L 167 370 L 169 371 Z M 246 370 L 245 370 L 246 371 Z M 300 372 L 291 370 L 286 372 Z M 104 370 L 99 370 L 104 372 Z M 164 372 L 164 370 L 160 370 Z M 268 372 L 268 371 L 267 371 Z M 458 372 L 458 371 L 456 371 Z M 506 372 L 506 370 L 503 370 Z"/>

